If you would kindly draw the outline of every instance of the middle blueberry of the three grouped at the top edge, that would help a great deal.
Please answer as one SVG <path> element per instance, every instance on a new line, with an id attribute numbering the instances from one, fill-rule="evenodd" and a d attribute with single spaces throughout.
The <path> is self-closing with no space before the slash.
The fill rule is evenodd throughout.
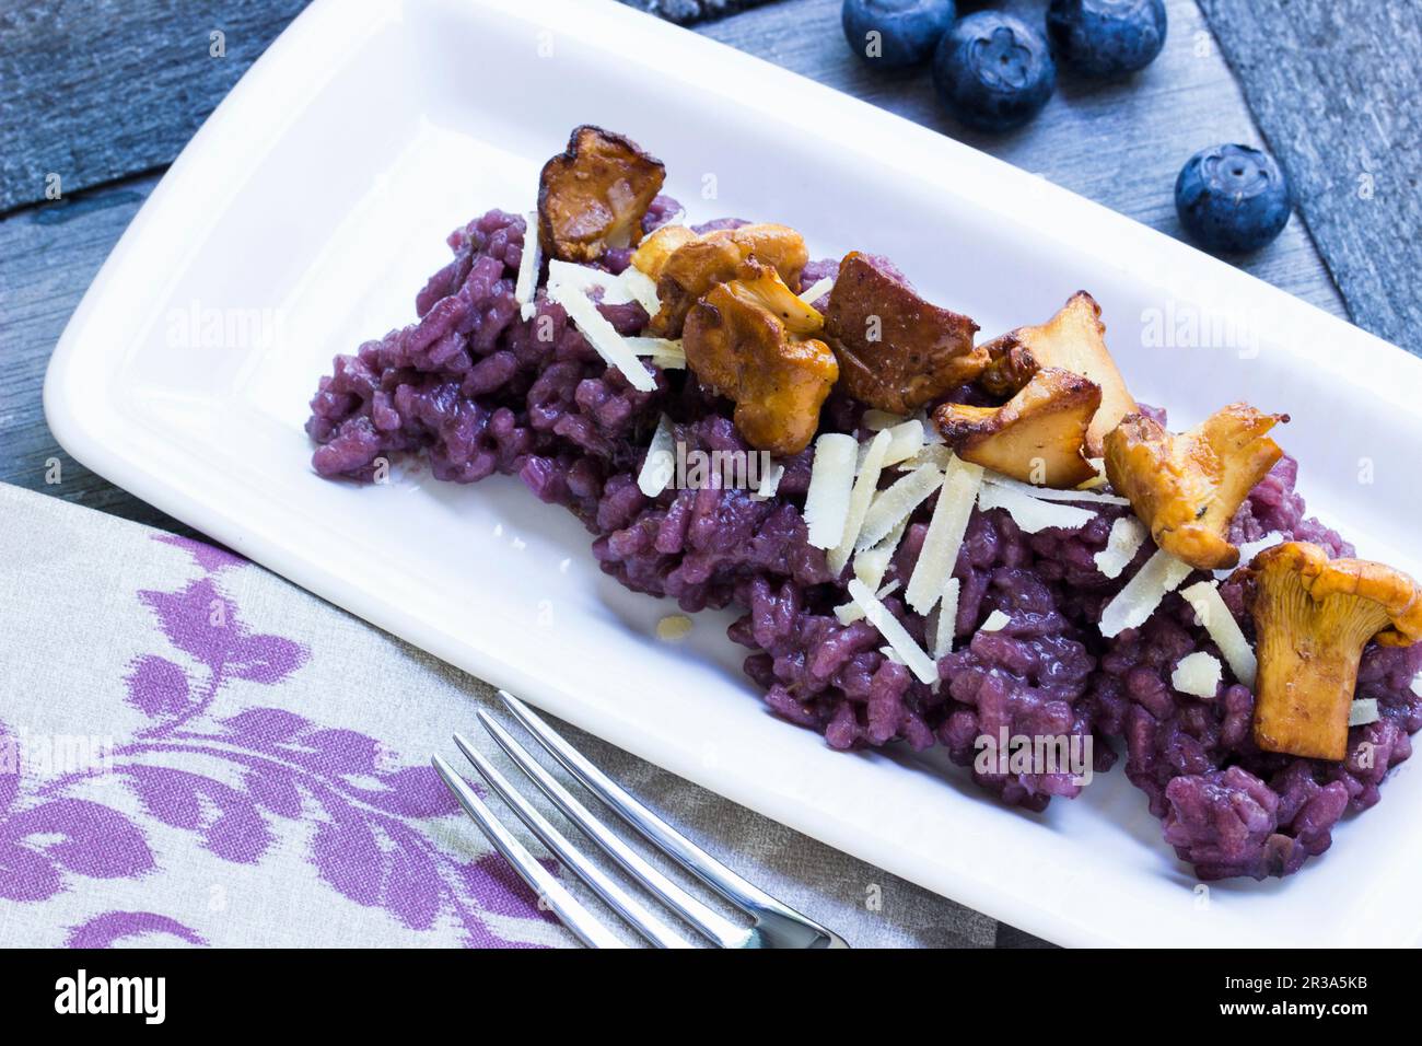
<path id="1" fill-rule="evenodd" d="M 943 36 L 933 83 L 968 127 L 1007 131 L 1041 112 L 1057 88 L 1057 65 L 1041 33 L 1011 14 L 977 11 Z"/>

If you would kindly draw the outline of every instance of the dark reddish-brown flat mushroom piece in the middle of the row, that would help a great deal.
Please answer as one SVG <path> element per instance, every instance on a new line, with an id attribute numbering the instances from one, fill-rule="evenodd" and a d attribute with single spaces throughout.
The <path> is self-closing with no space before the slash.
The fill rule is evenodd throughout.
<path id="1" fill-rule="evenodd" d="M 912 414 L 974 380 L 987 352 L 977 324 L 921 299 L 886 259 L 845 255 L 825 310 L 825 340 L 845 391 L 870 407 Z"/>

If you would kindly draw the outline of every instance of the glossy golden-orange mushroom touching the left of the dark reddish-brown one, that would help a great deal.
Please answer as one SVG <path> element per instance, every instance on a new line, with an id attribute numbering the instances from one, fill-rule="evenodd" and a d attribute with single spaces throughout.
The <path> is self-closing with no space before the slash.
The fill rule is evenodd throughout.
<path id="1" fill-rule="evenodd" d="M 815 437 L 819 408 L 839 377 L 829 346 L 806 337 L 822 322 L 755 259 L 687 315 L 687 366 L 702 386 L 735 400 L 735 427 L 757 450 L 798 454 Z"/>

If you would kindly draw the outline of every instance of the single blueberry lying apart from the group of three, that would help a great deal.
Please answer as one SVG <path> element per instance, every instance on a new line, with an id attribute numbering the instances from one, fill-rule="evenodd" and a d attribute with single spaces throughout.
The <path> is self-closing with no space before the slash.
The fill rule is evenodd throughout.
<path id="1" fill-rule="evenodd" d="M 1175 182 L 1186 235 L 1217 255 L 1258 250 L 1288 225 L 1293 206 L 1278 164 L 1249 145 L 1200 149 Z"/>

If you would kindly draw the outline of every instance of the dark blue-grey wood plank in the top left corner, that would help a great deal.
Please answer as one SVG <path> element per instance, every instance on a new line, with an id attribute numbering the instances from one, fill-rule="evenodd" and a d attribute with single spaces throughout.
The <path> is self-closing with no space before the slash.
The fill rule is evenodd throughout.
<path id="1" fill-rule="evenodd" d="M 0 212 L 171 164 L 304 6 L 0 0 Z"/>

